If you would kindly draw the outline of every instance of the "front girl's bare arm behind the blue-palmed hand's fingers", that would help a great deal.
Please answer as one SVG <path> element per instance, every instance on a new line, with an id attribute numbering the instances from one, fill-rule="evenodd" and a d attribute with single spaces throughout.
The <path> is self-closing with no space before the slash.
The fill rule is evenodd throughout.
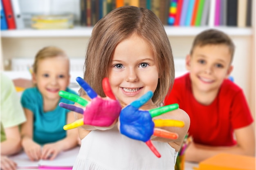
<path id="1" fill-rule="evenodd" d="M 173 110 L 171 112 L 162 114 L 160 116 L 154 117 L 154 119 L 173 119 L 173 120 L 180 120 L 184 122 L 184 127 L 161 127 L 163 130 L 167 130 L 169 132 L 175 132 L 178 134 L 177 139 L 167 139 L 163 137 L 155 137 L 151 138 L 152 141 L 161 141 L 161 142 L 168 142 L 176 151 L 180 150 L 182 146 L 182 142 L 189 130 L 190 126 L 190 118 L 189 115 L 182 109 L 178 108 L 177 110 Z"/>

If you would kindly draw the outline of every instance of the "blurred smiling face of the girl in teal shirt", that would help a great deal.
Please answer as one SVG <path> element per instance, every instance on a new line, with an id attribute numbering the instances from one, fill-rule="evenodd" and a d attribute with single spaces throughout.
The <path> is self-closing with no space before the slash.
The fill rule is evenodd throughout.
<path id="1" fill-rule="evenodd" d="M 59 91 L 65 91 L 70 83 L 69 62 L 67 58 L 56 56 L 38 61 L 37 73 L 33 82 L 43 95 L 43 99 L 59 99 Z"/>

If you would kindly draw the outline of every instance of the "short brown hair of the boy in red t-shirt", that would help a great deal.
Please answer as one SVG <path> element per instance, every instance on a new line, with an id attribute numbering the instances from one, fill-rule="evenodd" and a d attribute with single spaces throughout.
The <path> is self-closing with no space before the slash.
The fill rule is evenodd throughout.
<path id="1" fill-rule="evenodd" d="M 234 52 L 235 52 L 235 45 L 229 36 L 217 29 L 207 29 L 199 33 L 194 41 L 192 48 L 190 50 L 190 54 L 193 54 L 193 51 L 196 46 L 205 46 L 205 45 L 218 45 L 218 44 L 225 44 L 229 48 L 229 52 L 231 55 L 231 62 L 233 60 Z"/>

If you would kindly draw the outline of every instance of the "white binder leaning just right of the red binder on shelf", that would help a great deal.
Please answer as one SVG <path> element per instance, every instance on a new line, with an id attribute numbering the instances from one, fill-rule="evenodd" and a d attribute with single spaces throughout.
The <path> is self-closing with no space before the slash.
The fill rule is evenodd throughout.
<path id="1" fill-rule="evenodd" d="M 13 9 L 13 17 L 16 24 L 16 29 L 24 29 L 23 15 L 20 11 L 20 4 L 18 0 L 11 0 L 11 7 Z"/>

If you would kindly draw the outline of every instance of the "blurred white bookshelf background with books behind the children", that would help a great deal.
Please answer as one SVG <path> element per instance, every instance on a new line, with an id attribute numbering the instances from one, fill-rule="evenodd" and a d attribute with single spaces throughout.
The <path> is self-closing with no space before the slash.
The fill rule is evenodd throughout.
<path id="1" fill-rule="evenodd" d="M 186 73 L 193 38 L 209 28 L 227 33 L 236 45 L 234 82 L 243 88 L 252 115 L 256 106 L 255 0 L 1 0 L 1 70 L 31 79 L 28 67 L 44 46 L 64 49 L 71 60 L 71 86 L 83 77 L 93 25 L 123 5 L 146 7 L 164 24 L 175 59 L 176 77 Z M 4 24 L 4 17 L 12 16 Z"/>

